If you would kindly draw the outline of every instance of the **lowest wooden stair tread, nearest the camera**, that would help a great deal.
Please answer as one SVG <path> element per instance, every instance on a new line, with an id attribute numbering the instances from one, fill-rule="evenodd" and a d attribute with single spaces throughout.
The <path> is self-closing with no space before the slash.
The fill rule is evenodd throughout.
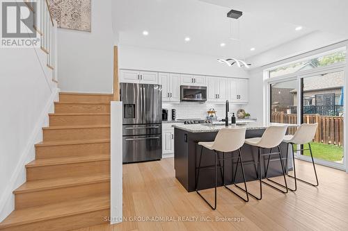
<path id="1" fill-rule="evenodd" d="M 93 196 L 64 203 L 16 209 L 10 214 L 10 216 L 0 223 L 0 230 L 15 225 L 47 221 L 50 219 L 58 219 L 65 216 L 73 216 L 76 214 L 84 214 L 109 208 L 109 196 Z"/>

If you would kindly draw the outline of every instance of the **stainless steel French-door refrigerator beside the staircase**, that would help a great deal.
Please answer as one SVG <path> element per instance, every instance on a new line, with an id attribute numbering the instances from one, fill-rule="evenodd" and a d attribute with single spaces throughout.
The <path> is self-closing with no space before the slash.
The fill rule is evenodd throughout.
<path id="1" fill-rule="evenodd" d="M 161 85 L 120 83 L 123 163 L 162 157 Z"/>

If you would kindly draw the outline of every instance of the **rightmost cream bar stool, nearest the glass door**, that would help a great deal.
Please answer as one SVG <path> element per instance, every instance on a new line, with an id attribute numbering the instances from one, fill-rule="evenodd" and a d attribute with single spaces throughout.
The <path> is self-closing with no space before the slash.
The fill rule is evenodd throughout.
<path id="1" fill-rule="evenodd" d="M 318 177 L 317 177 L 317 170 L 315 169 L 315 164 L 314 164 L 314 160 L 313 160 L 313 153 L 312 153 L 312 147 L 310 146 L 310 142 L 313 142 L 313 138 L 315 136 L 315 132 L 317 132 L 317 127 L 318 127 L 318 123 L 303 123 L 301 124 L 301 126 L 299 126 L 299 128 L 296 130 L 294 135 L 286 135 L 285 138 L 283 139 L 283 142 L 287 143 L 287 153 L 286 153 L 286 164 L 285 166 L 287 166 L 287 155 L 289 153 L 289 144 L 291 144 L 292 146 L 292 166 L 294 167 L 294 176 L 290 176 L 289 174 L 287 174 L 287 176 L 289 176 L 290 178 L 294 178 L 294 183 L 295 183 L 295 187 L 294 189 L 290 189 L 291 191 L 296 191 L 297 190 L 297 183 L 296 180 L 299 180 L 301 182 L 304 182 L 308 185 L 312 185 L 314 187 L 317 187 L 319 185 L 319 181 L 318 181 Z M 297 150 L 294 150 L 294 144 L 297 145 L 303 145 L 303 144 L 308 144 L 309 148 L 300 148 Z M 302 180 L 299 178 L 296 178 L 296 169 L 295 169 L 295 155 L 294 152 L 295 151 L 310 151 L 310 157 L 312 159 L 312 164 L 313 164 L 313 169 L 314 169 L 314 173 L 315 173 L 315 180 L 316 180 L 316 184 L 310 183 L 306 180 Z M 284 187 L 284 186 L 283 186 Z"/>

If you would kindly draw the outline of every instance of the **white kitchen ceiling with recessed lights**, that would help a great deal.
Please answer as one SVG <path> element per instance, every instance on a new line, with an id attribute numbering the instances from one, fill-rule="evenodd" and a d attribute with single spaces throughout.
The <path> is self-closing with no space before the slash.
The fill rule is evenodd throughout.
<path id="1" fill-rule="evenodd" d="M 248 58 L 327 27 L 327 23 L 324 24 L 322 21 L 331 19 L 326 19 L 326 16 L 322 15 L 322 10 L 326 9 L 324 6 L 322 10 L 314 10 L 312 7 L 312 11 L 304 17 L 301 13 L 302 8 L 308 7 L 307 1 L 296 3 L 296 7 L 287 8 L 291 5 L 290 2 L 297 1 L 300 2 L 299 0 L 117 0 L 113 3 L 113 17 L 121 45 L 200 53 L 213 55 L 216 58 Z M 276 4 L 270 5 L 272 2 Z M 221 6 L 211 3 L 218 3 Z M 244 11 L 239 22 L 242 44 L 230 40 L 231 22 L 237 26 L 237 21 L 226 17 L 231 8 Z M 345 10 L 348 11 L 347 9 L 346 7 Z M 342 8 L 338 10 L 342 15 Z M 331 14 L 332 17 L 333 15 Z M 293 20 L 290 20 L 290 16 Z M 308 18 L 310 20 L 306 23 L 301 20 Z M 317 18 L 325 19 L 320 21 L 320 28 L 314 24 L 318 22 Z M 299 25 L 303 26 L 303 30 L 295 31 L 294 28 Z M 148 31 L 149 35 L 144 36 L 143 31 Z M 348 34 L 347 26 L 345 31 Z M 232 36 L 236 34 L 236 30 L 232 31 Z M 190 37 L 191 41 L 184 42 L 184 37 Z M 222 42 L 226 43 L 225 47 L 220 46 Z M 250 51 L 251 47 L 255 47 L 255 51 Z"/>

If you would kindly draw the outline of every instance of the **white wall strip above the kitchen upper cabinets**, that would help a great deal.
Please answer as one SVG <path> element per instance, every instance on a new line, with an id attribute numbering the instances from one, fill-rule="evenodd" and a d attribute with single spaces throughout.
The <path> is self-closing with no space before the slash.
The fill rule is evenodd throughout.
<path id="1" fill-rule="evenodd" d="M 121 44 L 118 49 L 118 58 L 120 69 L 248 78 L 248 73 L 244 69 L 228 67 L 217 62 L 216 57 L 207 55 L 145 49 Z"/>

